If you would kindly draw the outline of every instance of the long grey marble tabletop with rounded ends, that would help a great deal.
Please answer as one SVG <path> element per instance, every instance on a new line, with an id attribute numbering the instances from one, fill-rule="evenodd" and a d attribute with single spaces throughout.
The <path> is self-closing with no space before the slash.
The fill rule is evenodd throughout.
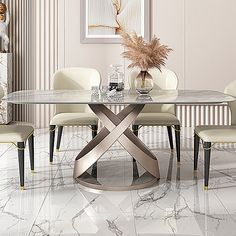
<path id="1" fill-rule="evenodd" d="M 153 90 L 149 95 L 125 90 L 113 96 L 93 95 L 89 90 L 23 90 L 5 98 L 14 104 L 213 104 L 234 100 L 211 90 Z"/>

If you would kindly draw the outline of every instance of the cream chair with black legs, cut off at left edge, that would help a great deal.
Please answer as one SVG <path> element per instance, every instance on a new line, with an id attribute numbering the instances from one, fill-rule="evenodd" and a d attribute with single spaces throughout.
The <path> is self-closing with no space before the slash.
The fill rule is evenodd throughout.
<path id="1" fill-rule="evenodd" d="M 0 103 L 4 96 L 0 86 Z M 24 189 L 24 149 L 29 141 L 30 167 L 34 172 L 34 128 L 28 125 L 0 125 L 0 143 L 12 143 L 18 148 L 18 161 L 20 172 L 20 187 Z"/>

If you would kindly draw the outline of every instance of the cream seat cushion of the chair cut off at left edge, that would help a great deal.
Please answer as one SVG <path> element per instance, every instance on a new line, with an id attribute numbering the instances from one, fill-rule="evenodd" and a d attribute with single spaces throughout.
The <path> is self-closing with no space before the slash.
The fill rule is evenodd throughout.
<path id="1" fill-rule="evenodd" d="M 24 142 L 33 132 L 34 128 L 28 125 L 0 125 L 0 142 Z"/>

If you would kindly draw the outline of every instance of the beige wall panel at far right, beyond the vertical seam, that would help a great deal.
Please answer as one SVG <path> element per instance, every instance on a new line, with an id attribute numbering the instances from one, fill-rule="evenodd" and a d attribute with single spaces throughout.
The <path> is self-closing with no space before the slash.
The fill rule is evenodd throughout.
<path id="1" fill-rule="evenodd" d="M 185 2 L 186 88 L 223 90 L 236 79 L 236 1 Z"/>

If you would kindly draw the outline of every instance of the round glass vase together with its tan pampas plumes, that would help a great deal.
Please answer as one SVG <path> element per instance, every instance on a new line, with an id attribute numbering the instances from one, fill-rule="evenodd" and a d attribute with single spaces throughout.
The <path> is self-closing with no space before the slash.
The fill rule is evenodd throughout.
<path id="1" fill-rule="evenodd" d="M 154 87 L 154 82 L 149 69 L 157 68 L 161 71 L 161 66 L 165 66 L 171 48 L 161 45 L 160 39 L 154 36 L 150 42 L 146 42 L 137 33 L 122 33 L 122 45 L 126 51 L 122 53 L 124 58 L 131 61 L 128 68 L 138 67 L 140 73 L 135 78 L 135 88 L 140 94 L 148 94 Z"/>

